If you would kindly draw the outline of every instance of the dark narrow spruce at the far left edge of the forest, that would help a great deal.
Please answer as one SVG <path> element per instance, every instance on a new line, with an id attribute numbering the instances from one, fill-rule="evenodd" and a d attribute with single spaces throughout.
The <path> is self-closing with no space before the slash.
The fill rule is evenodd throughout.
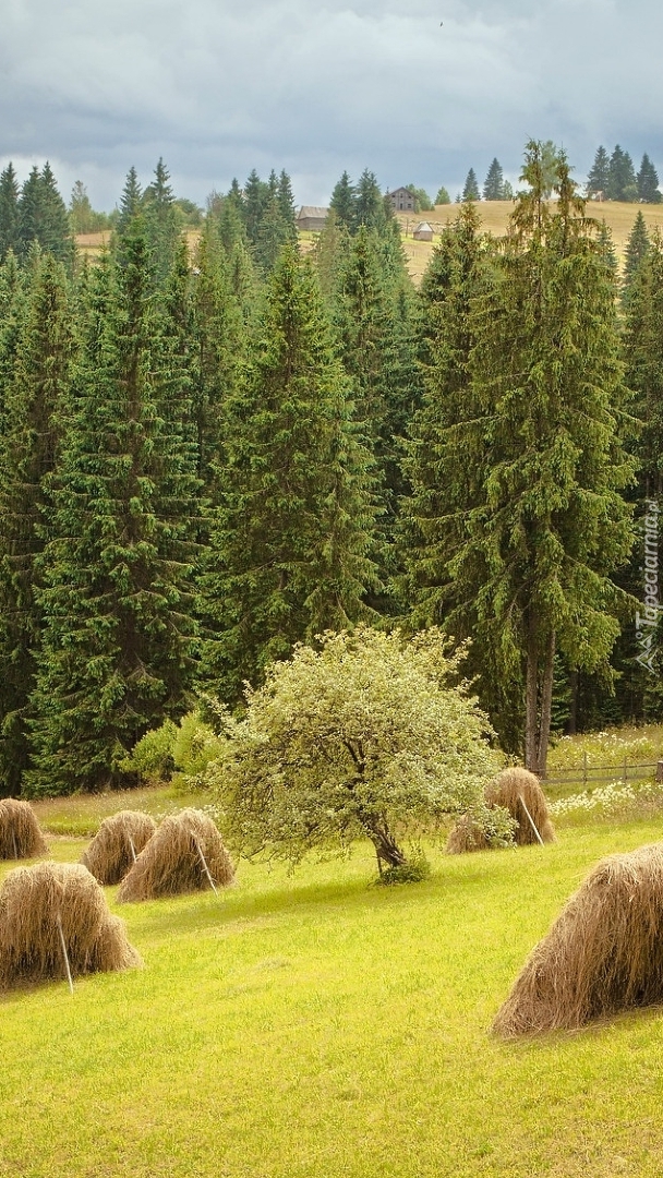
<path id="1" fill-rule="evenodd" d="M 34 595 L 44 547 L 44 479 L 57 462 L 73 358 L 64 270 L 46 253 L 33 276 L 16 342 L 0 454 L 0 794 L 13 796 L 28 762 L 26 716 L 40 644 Z"/>

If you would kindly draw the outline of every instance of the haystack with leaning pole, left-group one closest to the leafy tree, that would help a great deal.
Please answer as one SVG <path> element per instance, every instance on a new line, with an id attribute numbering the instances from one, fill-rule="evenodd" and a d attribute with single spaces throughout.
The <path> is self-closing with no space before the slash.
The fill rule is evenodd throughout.
<path id="1" fill-rule="evenodd" d="M 118 901 L 154 900 L 211 887 L 203 858 L 216 887 L 234 881 L 230 855 L 211 818 L 185 809 L 164 819 L 125 875 Z"/>

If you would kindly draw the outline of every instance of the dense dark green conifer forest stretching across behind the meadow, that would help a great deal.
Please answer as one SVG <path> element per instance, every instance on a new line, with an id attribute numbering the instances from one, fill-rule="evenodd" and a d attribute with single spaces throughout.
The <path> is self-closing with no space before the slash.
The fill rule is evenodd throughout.
<path id="1" fill-rule="evenodd" d="M 632 618 L 663 244 L 641 218 L 618 279 L 563 153 L 546 201 L 548 164 L 529 144 L 503 239 L 464 203 L 419 290 L 369 171 L 305 257 L 285 172 L 213 194 L 191 252 L 163 161 L 146 190 L 132 170 L 94 265 L 62 221 L 29 237 L 15 190 L 0 794 L 131 786 L 147 730 L 205 694 L 240 706 L 358 622 L 470 640 L 497 739 L 535 770 L 551 727 L 661 714 L 658 630 L 637 663 Z"/>

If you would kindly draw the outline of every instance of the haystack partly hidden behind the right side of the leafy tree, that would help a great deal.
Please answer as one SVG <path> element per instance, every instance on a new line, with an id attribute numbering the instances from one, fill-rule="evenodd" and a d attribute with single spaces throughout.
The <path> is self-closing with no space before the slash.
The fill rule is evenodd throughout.
<path id="1" fill-rule="evenodd" d="M 503 769 L 486 786 L 485 800 L 489 806 L 502 806 L 515 819 L 513 842 L 516 846 L 525 847 L 538 843 L 539 840 L 532 822 L 542 842 L 555 842 L 555 830 L 548 813 L 545 795 L 538 783 L 538 777 L 535 777 L 529 769 L 519 767 Z M 470 851 L 486 851 L 490 846 L 491 843 L 480 826 L 472 821 L 470 814 L 464 814 L 451 830 L 445 851 L 449 855 L 462 855 Z"/>

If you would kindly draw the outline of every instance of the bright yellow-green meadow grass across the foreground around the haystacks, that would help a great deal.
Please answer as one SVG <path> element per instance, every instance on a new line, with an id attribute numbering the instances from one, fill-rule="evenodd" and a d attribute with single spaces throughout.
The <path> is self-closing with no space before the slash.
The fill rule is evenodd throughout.
<path id="1" fill-rule="evenodd" d="M 0 1000 L 0 1176 L 658 1178 L 659 1010 L 516 1045 L 488 1028 L 597 859 L 659 835 L 431 847 L 431 878 L 395 888 L 358 847 L 294 875 L 243 863 L 220 900 L 115 909 L 107 889 L 145 968 Z"/>

